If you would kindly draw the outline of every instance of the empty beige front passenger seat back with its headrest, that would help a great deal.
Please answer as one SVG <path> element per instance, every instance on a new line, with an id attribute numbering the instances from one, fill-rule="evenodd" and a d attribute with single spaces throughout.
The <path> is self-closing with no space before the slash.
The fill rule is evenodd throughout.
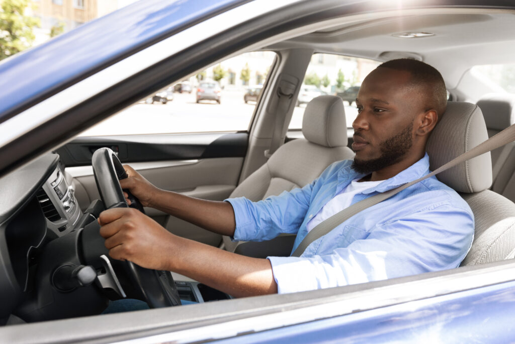
<path id="1" fill-rule="evenodd" d="M 302 134 L 303 139 L 283 144 L 263 166 L 238 185 L 230 197 L 245 196 L 256 202 L 279 195 L 311 183 L 331 163 L 354 157 L 347 147 L 345 109 L 340 97 L 321 95 L 308 103 Z M 234 252 L 238 243 L 224 237 L 224 245 L 226 250 Z"/>

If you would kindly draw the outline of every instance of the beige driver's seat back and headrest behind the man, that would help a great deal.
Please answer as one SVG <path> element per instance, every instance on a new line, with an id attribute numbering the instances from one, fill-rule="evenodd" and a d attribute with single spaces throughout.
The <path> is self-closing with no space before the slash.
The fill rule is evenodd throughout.
<path id="1" fill-rule="evenodd" d="M 449 102 L 427 143 L 431 169 L 465 153 L 488 138 L 483 114 L 470 103 Z M 513 258 L 515 204 L 488 190 L 492 183 L 490 153 L 437 175 L 467 201 L 475 218 L 474 241 L 462 265 Z"/>

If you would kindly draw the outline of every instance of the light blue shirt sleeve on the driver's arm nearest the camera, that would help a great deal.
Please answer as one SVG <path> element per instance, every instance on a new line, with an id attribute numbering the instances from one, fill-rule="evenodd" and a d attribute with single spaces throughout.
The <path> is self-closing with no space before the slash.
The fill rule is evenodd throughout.
<path id="1" fill-rule="evenodd" d="M 376 225 L 368 237 L 329 254 L 268 259 L 278 292 L 297 292 L 456 268 L 473 234 L 470 211 L 440 205 Z"/>

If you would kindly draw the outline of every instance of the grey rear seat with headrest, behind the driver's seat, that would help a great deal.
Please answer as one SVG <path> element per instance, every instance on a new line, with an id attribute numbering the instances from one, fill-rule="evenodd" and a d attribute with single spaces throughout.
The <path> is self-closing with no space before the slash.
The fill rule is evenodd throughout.
<path id="1" fill-rule="evenodd" d="M 483 112 L 488 137 L 501 132 L 515 123 L 515 96 L 511 94 L 487 94 L 477 102 Z M 515 142 L 491 152 L 491 190 L 515 202 Z"/>

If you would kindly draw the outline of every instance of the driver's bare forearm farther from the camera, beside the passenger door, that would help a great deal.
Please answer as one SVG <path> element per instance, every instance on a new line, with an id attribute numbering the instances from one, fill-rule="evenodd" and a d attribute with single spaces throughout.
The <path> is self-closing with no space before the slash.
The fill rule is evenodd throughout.
<path id="1" fill-rule="evenodd" d="M 160 190 L 152 197 L 150 206 L 208 231 L 234 235 L 236 220 L 234 210 L 228 202 L 207 201 Z"/>

